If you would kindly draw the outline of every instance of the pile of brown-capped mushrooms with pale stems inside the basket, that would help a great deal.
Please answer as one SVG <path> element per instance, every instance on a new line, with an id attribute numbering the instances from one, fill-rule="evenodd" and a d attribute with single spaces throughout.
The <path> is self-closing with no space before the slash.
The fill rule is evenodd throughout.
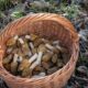
<path id="1" fill-rule="evenodd" d="M 58 40 L 35 34 L 15 35 L 7 43 L 3 66 L 14 76 L 38 78 L 51 75 L 66 64 L 67 48 Z"/>

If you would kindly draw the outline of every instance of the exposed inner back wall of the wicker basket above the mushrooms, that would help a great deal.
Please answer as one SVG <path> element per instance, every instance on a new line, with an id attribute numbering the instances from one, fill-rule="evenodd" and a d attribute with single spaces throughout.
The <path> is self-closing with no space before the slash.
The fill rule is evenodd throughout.
<path id="1" fill-rule="evenodd" d="M 3 56 L 6 53 L 6 42 L 9 37 L 13 35 L 22 35 L 34 33 L 40 35 L 41 37 L 48 38 L 48 40 L 59 40 L 62 45 L 68 48 L 69 56 L 72 55 L 73 51 L 73 40 L 70 33 L 61 24 L 52 20 L 41 20 L 34 21 L 32 23 L 28 22 L 24 24 L 14 23 L 14 25 L 9 26 L 2 37 L 2 50 Z M 2 57 L 3 57 L 2 56 Z M 70 57 L 69 57 L 70 58 Z"/>

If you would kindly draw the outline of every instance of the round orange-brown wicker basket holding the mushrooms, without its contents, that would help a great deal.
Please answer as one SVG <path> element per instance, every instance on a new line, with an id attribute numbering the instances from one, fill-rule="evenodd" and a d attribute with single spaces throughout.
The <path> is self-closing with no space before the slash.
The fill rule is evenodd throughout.
<path id="1" fill-rule="evenodd" d="M 68 63 L 56 73 L 44 78 L 20 78 L 11 75 L 2 66 L 6 53 L 6 42 L 18 34 L 35 33 L 45 38 L 59 40 L 67 46 L 70 58 Z M 72 23 L 54 13 L 36 13 L 21 18 L 8 24 L 0 33 L 0 76 L 10 88 L 62 88 L 73 74 L 79 52 L 79 37 Z"/>

